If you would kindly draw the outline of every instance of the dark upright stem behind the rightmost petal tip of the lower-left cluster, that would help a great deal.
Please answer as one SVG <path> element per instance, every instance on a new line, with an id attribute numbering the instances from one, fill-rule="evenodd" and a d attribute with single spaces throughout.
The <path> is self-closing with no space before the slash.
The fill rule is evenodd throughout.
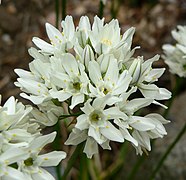
<path id="1" fill-rule="evenodd" d="M 52 146 L 55 150 L 60 151 L 61 150 L 60 122 L 58 121 L 53 128 L 54 128 L 54 131 L 57 132 L 57 135 L 56 135 L 54 142 L 52 143 Z M 59 163 L 58 166 L 56 166 L 56 174 L 57 174 L 58 180 L 61 180 L 61 163 Z"/>

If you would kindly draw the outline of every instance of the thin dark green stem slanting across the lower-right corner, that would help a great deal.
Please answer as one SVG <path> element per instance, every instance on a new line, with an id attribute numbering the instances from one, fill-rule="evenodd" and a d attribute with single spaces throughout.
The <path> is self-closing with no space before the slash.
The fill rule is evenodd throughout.
<path id="1" fill-rule="evenodd" d="M 177 135 L 176 139 L 172 142 L 172 144 L 166 150 L 165 154 L 159 160 L 157 166 L 155 167 L 155 169 L 153 170 L 153 172 L 152 172 L 152 174 L 150 176 L 150 180 L 155 178 L 157 172 L 160 170 L 161 166 L 163 165 L 163 162 L 165 161 L 165 159 L 167 158 L 167 156 L 169 155 L 171 150 L 174 148 L 174 146 L 177 144 L 177 142 L 180 140 L 180 138 L 183 136 L 185 131 L 186 131 L 186 123 L 183 126 L 183 128 L 181 129 L 181 131 L 179 132 L 179 134 Z"/>

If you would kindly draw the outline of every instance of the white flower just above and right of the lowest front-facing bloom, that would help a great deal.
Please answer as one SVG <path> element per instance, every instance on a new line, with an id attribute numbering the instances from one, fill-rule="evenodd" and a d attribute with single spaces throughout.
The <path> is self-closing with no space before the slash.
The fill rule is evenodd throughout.
<path id="1" fill-rule="evenodd" d="M 108 104 L 112 105 L 120 101 L 118 96 L 127 91 L 132 78 L 127 71 L 119 73 L 117 60 L 113 57 L 110 57 L 107 68 L 103 66 L 100 67 L 96 61 L 89 62 L 90 96 L 104 97 L 110 94 L 111 98 Z M 105 69 L 105 72 L 101 72 L 102 69 Z"/>

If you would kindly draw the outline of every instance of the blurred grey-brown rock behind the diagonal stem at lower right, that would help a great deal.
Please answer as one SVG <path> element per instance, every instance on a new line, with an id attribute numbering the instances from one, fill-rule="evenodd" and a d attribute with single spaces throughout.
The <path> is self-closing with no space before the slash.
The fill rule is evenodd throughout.
<path id="1" fill-rule="evenodd" d="M 156 153 L 162 154 L 167 147 L 176 138 L 184 124 L 186 123 L 186 92 L 179 95 L 173 102 L 170 109 L 169 119 L 171 123 L 166 125 L 168 135 L 156 141 Z M 165 160 L 157 180 L 185 180 L 186 179 L 186 133 L 182 136 L 180 141 L 176 144 L 167 159 Z"/>

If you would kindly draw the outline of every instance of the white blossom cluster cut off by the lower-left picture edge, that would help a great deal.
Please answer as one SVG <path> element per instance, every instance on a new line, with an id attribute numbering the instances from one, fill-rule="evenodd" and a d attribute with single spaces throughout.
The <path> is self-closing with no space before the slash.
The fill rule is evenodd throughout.
<path id="1" fill-rule="evenodd" d="M 54 180 L 42 167 L 56 166 L 66 157 L 62 151 L 40 154 L 51 143 L 56 132 L 40 133 L 39 124 L 24 106 L 10 97 L 0 106 L 0 179 Z"/>

